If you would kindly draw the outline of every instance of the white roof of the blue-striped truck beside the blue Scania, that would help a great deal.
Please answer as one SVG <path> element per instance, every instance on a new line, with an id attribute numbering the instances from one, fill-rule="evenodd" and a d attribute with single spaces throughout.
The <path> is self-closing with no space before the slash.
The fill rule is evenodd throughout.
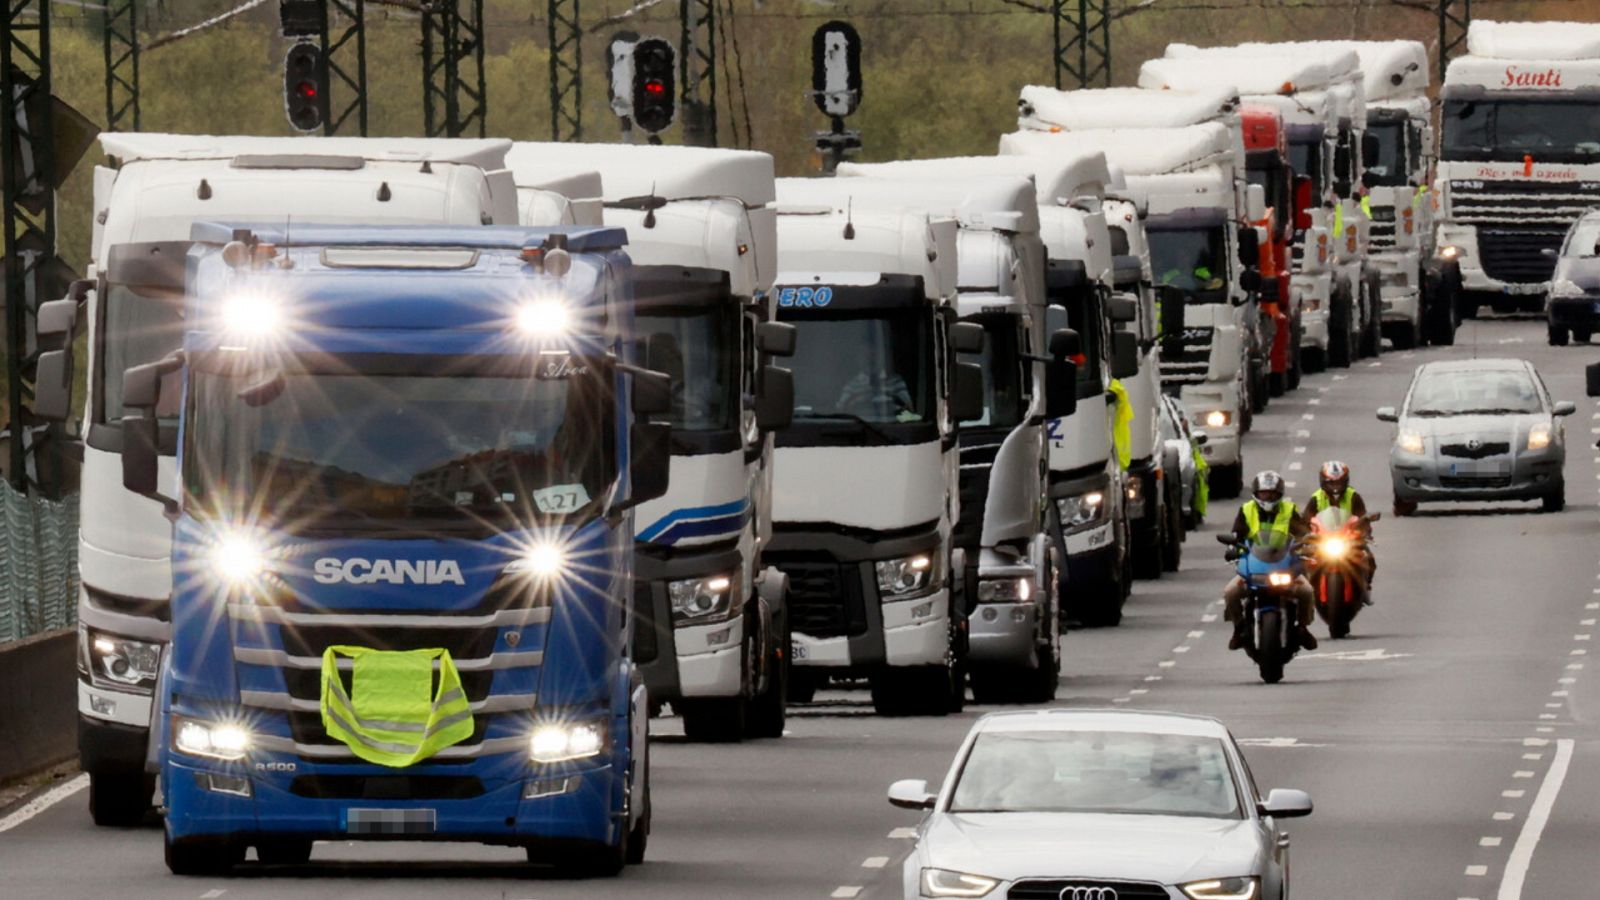
<path id="1" fill-rule="evenodd" d="M 539 168 L 597 170 L 605 179 L 606 200 L 651 194 L 667 200 L 738 197 L 746 207 L 774 200 L 773 157 L 755 151 L 518 143 L 506 162 L 518 173 L 518 184 L 525 171 Z"/>

